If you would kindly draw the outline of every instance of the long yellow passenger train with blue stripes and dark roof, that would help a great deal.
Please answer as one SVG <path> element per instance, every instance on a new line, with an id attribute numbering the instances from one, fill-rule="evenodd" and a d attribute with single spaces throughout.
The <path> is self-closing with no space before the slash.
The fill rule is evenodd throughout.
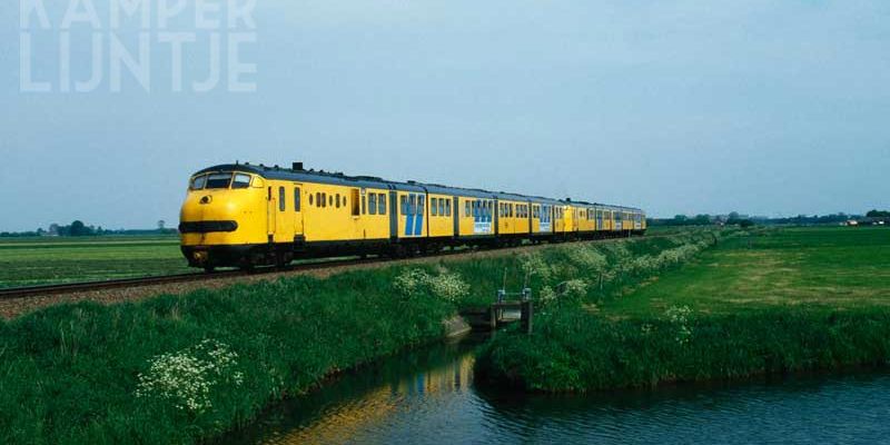
<path id="1" fill-rule="evenodd" d="M 643 210 L 249 164 L 195 174 L 180 214 L 192 267 L 286 265 L 336 255 L 409 256 L 643 235 Z"/>

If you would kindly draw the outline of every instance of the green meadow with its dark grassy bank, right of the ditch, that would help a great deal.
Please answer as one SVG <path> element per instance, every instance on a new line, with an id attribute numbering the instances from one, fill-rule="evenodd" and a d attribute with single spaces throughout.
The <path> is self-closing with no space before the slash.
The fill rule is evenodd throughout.
<path id="1" fill-rule="evenodd" d="M 481 373 L 532 390 L 724 379 L 890 358 L 890 231 L 760 231 L 633 291 L 545 309 L 498 335 Z"/>

